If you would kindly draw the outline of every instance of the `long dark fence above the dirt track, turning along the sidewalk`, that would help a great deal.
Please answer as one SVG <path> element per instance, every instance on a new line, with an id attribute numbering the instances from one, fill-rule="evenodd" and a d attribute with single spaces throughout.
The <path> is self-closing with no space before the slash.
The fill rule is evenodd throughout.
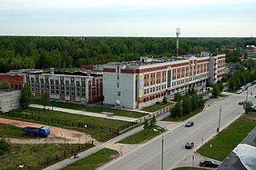
<path id="1" fill-rule="evenodd" d="M 75 122 L 75 121 L 68 121 L 68 120 L 61 120 L 61 119 L 56 119 L 56 118 L 49 118 L 46 116 L 41 116 L 39 114 L 39 110 L 38 113 L 35 114 L 33 112 L 30 113 L 15 113 L 15 112 L 6 112 L 3 113 L 3 115 L 5 116 L 12 116 L 12 117 L 19 117 L 19 118 L 25 118 L 25 119 L 32 119 L 32 120 L 36 120 L 36 121 L 40 121 L 40 122 L 44 122 L 47 124 L 51 124 L 51 125 L 67 125 L 67 126 L 72 126 L 72 127 L 78 127 L 78 128 L 84 128 L 85 131 L 100 131 L 100 132 L 105 132 L 105 135 L 101 135 L 100 136 L 100 141 L 106 141 L 110 138 L 113 138 L 119 134 L 121 134 L 121 132 L 132 126 L 135 125 L 137 123 L 134 122 L 129 122 L 127 125 L 122 125 L 119 126 L 118 128 L 113 128 L 113 127 L 109 127 L 109 126 L 104 126 L 104 125 L 91 125 L 91 124 L 87 124 L 87 123 L 82 123 L 82 122 Z"/>

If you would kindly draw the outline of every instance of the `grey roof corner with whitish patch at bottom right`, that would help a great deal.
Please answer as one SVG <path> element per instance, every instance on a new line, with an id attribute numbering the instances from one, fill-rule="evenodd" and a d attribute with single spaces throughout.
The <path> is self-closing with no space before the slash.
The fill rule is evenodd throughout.
<path id="1" fill-rule="evenodd" d="M 218 170 L 256 169 L 256 127 L 228 155 Z"/>

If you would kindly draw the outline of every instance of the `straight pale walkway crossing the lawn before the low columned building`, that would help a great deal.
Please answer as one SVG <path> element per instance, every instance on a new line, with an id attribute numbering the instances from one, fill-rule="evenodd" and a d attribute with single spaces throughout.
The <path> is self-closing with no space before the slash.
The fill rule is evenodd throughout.
<path id="1" fill-rule="evenodd" d="M 30 107 L 34 108 L 44 108 L 44 105 L 29 105 Z M 46 110 L 54 110 L 59 112 L 66 112 L 69 114 L 76 114 L 76 115 L 88 115 L 88 116 L 94 116 L 94 117 L 101 117 L 106 119 L 112 119 L 112 120 L 121 120 L 121 121 L 127 121 L 127 122 L 136 122 L 138 118 L 132 118 L 132 117 L 125 117 L 125 116 L 119 116 L 119 115 L 105 115 L 105 114 L 98 114 L 93 112 L 85 112 L 80 110 L 74 110 L 74 109 L 68 109 L 68 108 L 61 108 L 61 107 L 54 107 L 54 106 L 46 106 Z"/>

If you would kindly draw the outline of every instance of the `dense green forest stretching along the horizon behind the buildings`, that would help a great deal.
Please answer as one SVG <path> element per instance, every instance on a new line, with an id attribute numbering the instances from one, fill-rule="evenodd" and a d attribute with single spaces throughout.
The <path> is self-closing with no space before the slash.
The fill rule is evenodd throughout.
<path id="1" fill-rule="evenodd" d="M 225 53 L 227 62 L 239 62 L 253 37 L 180 37 L 179 55 L 201 51 Z M 235 46 L 235 51 L 230 51 Z M 21 68 L 70 68 L 115 61 L 138 60 L 139 56 L 173 56 L 175 37 L 67 37 L 0 36 L 0 73 Z"/>

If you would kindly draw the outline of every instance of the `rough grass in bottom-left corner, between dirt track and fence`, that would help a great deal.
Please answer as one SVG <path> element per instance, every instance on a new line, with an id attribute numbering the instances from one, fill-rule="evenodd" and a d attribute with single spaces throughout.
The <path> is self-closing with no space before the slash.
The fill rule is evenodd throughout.
<path id="1" fill-rule="evenodd" d="M 89 149 L 91 146 L 87 146 Z M 17 169 L 16 165 L 25 165 L 23 169 L 43 169 L 48 165 L 64 159 L 64 144 L 36 144 L 36 145 L 11 145 L 11 150 L 4 155 L 0 155 L 0 169 Z M 76 149 L 78 145 L 67 145 L 67 157 L 71 156 L 71 148 Z M 75 151 L 76 151 L 75 150 Z M 56 161 L 56 155 L 58 160 Z M 47 165 L 47 157 L 49 164 Z M 39 166 L 38 166 L 39 162 Z"/>

